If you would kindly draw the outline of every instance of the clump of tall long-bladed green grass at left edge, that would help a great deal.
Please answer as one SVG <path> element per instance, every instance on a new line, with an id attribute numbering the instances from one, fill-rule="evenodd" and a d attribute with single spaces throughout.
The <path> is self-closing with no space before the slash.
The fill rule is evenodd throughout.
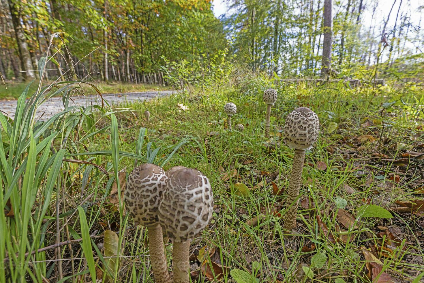
<path id="1" fill-rule="evenodd" d="M 123 188 L 116 182 L 123 179 L 118 178 L 120 163 L 131 159 L 135 164 L 163 166 L 188 141 L 164 148 L 148 141 L 147 129 L 141 128 L 134 151 L 121 151 L 115 112 L 123 110 L 115 111 L 107 103 L 69 106 L 72 95 L 81 92 L 81 84 L 89 83 L 43 85 L 47 62 L 57 64 L 53 57 L 40 59 L 38 88 L 26 100 L 28 84 L 17 101 L 15 117 L 0 112 L 0 282 L 64 282 L 88 274 L 95 282 L 99 270 L 102 276 L 116 278 L 119 264 L 107 269 L 110 261 L 94 239 L 103 237 L 99 215 L 115 186 L 115 254 L 122 254 L 128 217 L 120 199 Z M 36 109 L 58 95 L 64 110 L 38 120 Z M 90 143 L 100 138 L 104 140 L 100 150 L 90 151 Z M 106 226 L 110 230 L 111 224 Z"/>

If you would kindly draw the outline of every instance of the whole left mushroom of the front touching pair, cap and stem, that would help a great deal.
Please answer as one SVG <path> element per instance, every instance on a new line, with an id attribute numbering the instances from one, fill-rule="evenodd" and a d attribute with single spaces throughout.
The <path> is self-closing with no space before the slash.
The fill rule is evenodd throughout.
<path id="1" fill-rule="evenodd" d="M 170 283 L 158 219 L 159 200 L 167 182 L 165 171 L 154 164 L 142 164 L 129 174 L 125 189 L 125 205 L 134 224 L 148 230 L 149 253 L 155 282 Z"/>

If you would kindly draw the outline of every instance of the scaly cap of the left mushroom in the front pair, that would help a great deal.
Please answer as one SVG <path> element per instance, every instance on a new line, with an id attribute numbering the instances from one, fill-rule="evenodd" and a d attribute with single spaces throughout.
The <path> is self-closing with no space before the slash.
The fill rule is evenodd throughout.
<path id="1" fill-rule="evenodd" d="M 159 222 L 159 201 L 167 179 L 162 168 L 149 163 L 129 174 L 124 199 L 136 225 L 151 226 Z"/>

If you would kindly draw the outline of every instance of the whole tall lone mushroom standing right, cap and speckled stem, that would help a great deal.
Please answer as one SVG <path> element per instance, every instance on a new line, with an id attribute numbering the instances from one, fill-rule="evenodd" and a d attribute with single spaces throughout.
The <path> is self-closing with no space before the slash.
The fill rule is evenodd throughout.
<path id="1" fill-rule="evenodd" d="M 318 138 L 318 116 L 307 107 L 299 107 L 290 112 L 284 125 L 285 142 L 294 149 L 292 171 L 287 191 L 287 205 L 284 227 L 292 230 L 296 227 L 297 202 L 300 182 L 305 162 L 305 150 L 311 149 Z"/>

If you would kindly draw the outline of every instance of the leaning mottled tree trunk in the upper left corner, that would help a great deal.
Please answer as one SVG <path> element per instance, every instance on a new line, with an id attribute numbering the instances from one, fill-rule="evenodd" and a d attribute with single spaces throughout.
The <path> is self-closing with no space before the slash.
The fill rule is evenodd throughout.
<path id="1" fill-rule="evenodd" d="M 28 51 L 28 44 L 25 38 L 25 32 L 23 31 L 19 6 L 14 2 L 15 0 L 8 0 L 9 10 L 12 18 L 13 28 L 15 30 L 16 42 L 18 45 L 19 59 L 21 61 L 22 75 L 26 80 L 35 78 L 35 73 L 32 68 L 31 55 Z"/>

